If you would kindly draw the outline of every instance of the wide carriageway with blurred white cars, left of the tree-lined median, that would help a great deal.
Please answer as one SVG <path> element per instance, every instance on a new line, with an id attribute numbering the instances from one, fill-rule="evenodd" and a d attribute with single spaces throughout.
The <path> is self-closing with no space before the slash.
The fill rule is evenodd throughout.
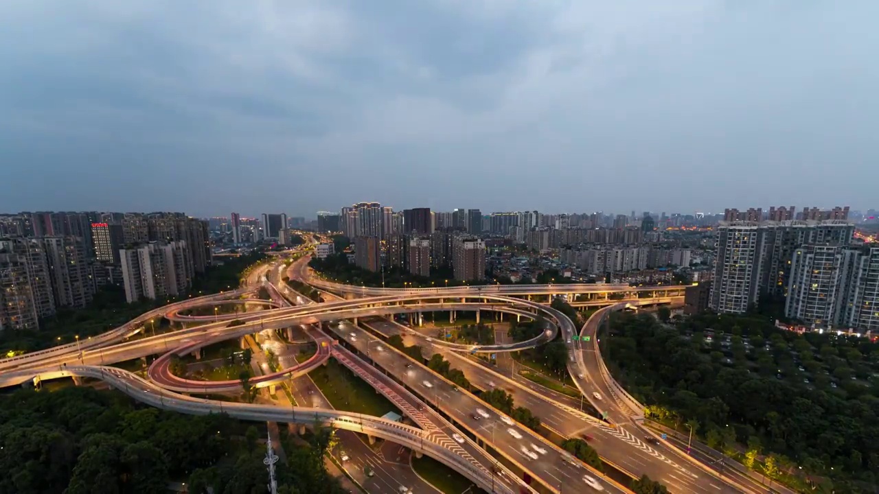
<path id="1" fill-rule="evenodd" d="M 368 331 L 353 326 L 350 323 L 340 323 L 335 327 L 338 328 L 338 332 L 340 332 L 349 343 L 357 347 L 361 352 L 366 351 L 367 345 L 384 345 L 380 339 L 374 338 Z M 356 335 L 354 341 L 351 341 L 351 332 Z M 377 350 L 371 352 L 371 355 L 373 360 L 376 363 L 379 363 L 382 367 L 389 368 L 392 372 L 402 372 L 402 374 L 399 375 L 402 376 L 401 380 L 403 382 L 409 385 L 411 389 L 417 389 L 423 396 L 425 396 L 425 401 L 438 403 L 439 408 L 446 410 L 448 415 L 453 417 L 458 423 L 466 425 L 472 430 L 478 431 L 490 420 L 500 422 L 499 418 L 493 411 L 489 412 L 491 416 L 490 418 L 484 418 L 483 420 L 474 419 L 472 416 L 476 412 L 476 409 L 483 408 L 483 410 L 486 410 L 488 408 L 487 405 L 477 400 L 475 397 L 470 396 L 468 393 L 455 391 L 446 381 L 439 379 L 435 374 L 423 367 L 417 367 L 414 365 L 412 367 L 405 367 L 406 364 L 410 363 L 409 358 L 405 355 L 387 349 L 384 351 Z M 401 369 L 403 370 L 401 371 Z M 425 385 L 425 381 L 429 382 L 430 386 Z M 493 446 L 498 449 L 498 451 L 503 451 L 505 455 L 515 459 L 515 461 L 518 461 L 520 464 L 527 465 L 528 468 L 534 471 L 537 476 L 540 476 L 545 483 L 558 489 L 560 486 L 570 483 L 570 479 L 579 477 L 581 479 L 580 482 L 582 482 L 582 476 L 585 473 L 585 470 L 570 465 L 570 463 L 564 461 L 563 454 L 560 454 L 552 447 L 549 447 L 542 437 L 534 434 L 534 432 L 519 424 L 511 426 L 501 423 L 501 425 L 498 426 L 503 426 L 503 428 L 494 434 L 494 439 L 492 440 Z M 509 429 L 516 431 L 522 436 L 522 438 L 514 438 L 512 434 L 508 432 Z M 489 436 L 486 437 L 488 438 Z M 523 453 L 523 447 L 534 451 L 531 447 L 532 443 L 545 449 L 547 453 L 539 454 L 534 452 L 534 454 L 537 454 L 537 458 L 533 458 L 530 455 Z M 470 443 L 468 442 L 465 444 L 469 445 Z M 601 479 L 599 479 L 599 483 L 601 483 L 605 489 L 612 491 L 617 490 L 614 484 L 605 483 Z"/>

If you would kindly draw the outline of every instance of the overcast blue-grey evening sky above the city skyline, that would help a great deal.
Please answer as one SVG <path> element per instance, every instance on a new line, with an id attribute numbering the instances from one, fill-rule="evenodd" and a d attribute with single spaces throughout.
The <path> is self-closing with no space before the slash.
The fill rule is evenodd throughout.
<path id="1" fill-rule="evenodd" d="M 879 207 L 875 0 L 0 11 L 0 212 Z"/>

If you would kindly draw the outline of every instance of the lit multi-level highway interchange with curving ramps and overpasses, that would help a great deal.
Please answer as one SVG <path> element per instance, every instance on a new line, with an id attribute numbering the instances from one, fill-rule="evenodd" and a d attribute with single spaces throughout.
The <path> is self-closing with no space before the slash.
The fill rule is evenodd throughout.
<path id="1" fill-rule="evenodd" d="M 252 294 L 255 289 L 243 288 L 227 294 L 179 302 L 151 311 L 123 328 L 93 338 L 93 341 L 81 342 L 78 348 L 75 345 L 65 345 L 47 352 L 34 352 L 14 359 L 0 360 L 0 373 L 2 373 L 0 385 L 9 386 L 32 381 L 35 376 L 40 376 L 40 379 L 66 375 L 93 377 L 104 379 L 113 387 L 122 389 L 145 403 L 170 410 L 185 413 L 222 410 L 239 418 L 300 424 L 303 423 L 303 418 L 308 417 L 312 422 L 317 419 L 339 429 L 365 432 L 410 447 L 413 451 L 423 451 L 439 461 L 446 462 L 488 491 L 515 492 L 523 488 L 518 477 L 512 473 L 512 470 L 506 469 L 505 464 L 530 473 L 543 484 L 542 490 L 588 491 L 591 487 L 583 480 L 583 477 L 588 475 L 595 479 L 600 490 L 627 491 L 625 487 L 607 477 L 590 472 L 582 462 L 573 460 L 570 454 L 563 452 L 526 427 L 503 423 L 502 414 L 498 410 L 492 410 L 490 406 L 466 390 L 455 389 L 452 383 L 432 373 L 420 362 L 411 360 L 402 352 L 397 352 L 383 343 L 383 338 L 392 334 L 401 334 L 408 345 L 421 345 L 425 350 L 426 358 L 436 352 L 444 355 L 451 362 L 452 367 L 461 369 L 477 388 L 500 387 L 507 390 L 517 405 L 533 410 L 535 415 L 554 432 L 564 437 L 575 438 L 588 434 L 591 439 L 589 442 L 596 447 L 599 454 L 621 469 L 636 475 L 646 473 L 651 478 L 668 485 L 673 492 L 755 491 L 741 483 L 729 483 L 728 477 L 718 478 L 711 470 L 704 466 L 700 467 L 693 459 L 686 458 L 686 454 L 682 454 L 678 448 L 670 447 L 663 441 L 657 441 L 659 444 L 648 444 L 643 441 L 643 438 L 649 434 L 637 424 L 636 420 L 633 420 L 640 414 L 640 410 L 636 408 L 640 405 L 625 396 L 624 391 L 615 385 L 615 381 L 603 367 L 597 346 L 587 345 L 579 338 L 571 338 L 580 331 L 585 331 L 583 334 L 594 335 L 601 318 L 599 314 L 620 309 L 620 306 L 625 304 L 615 303 L 608 309 L 602 309 L 590 318 L 582 330 L 579 330 L 567 317 L 554 309 L 549 309 L 545 304 L 510 298 L 512 296 L 530 298 L 531 295 L 547 295 L 545 298 L 551 298 L 553 294 L 585 294 L 587 299 L 600 299 L 603 296 L 606 303 L 613 303 L 608 295 L 614 293 L 614 290 L 620 290 L 627 292 L 629 296 L 633 293 L 646 294 L 647 296 L 637 299 L 644 303 L 650 301 L 656 303 L 661 300 L 679 302 L 682 298 L 679 287 L 633 289 L 619 286 L 550 285 L 376 289 L 349 287 L 318 280 L 306 267 L 307 260 L 307 257 L 301 258 L 290 267 L 287 274 L 291 278 L 299 279 L 327 292 L 342 294 L 351 300 L 308 303 L 300 294 L 295 294 L 286 284 L 280 283 L 282 264 L 276 262 L 258 271 L 256 276 L 264 277 L 258 281 L 268 284 L 271 279 L 272 283 L 268 286 L 272 287 L 272 290 L 280 287 L 280 291 L 288 299 L 301 303 L 301 306 L 238 315 L 237 318 L 241 319 L 243 324 L 235 327 L 228 327 L 228 317 L 223 317 L 222 320 L 220 317 L 207 317 L 203 319 L 204 323 L 193 328 L 155 337 L 131 338 L 135 332 L 143 331 L 147 321 L 157 316 L 178 315 L 185 309 L 210 306 L 222 298 Z M 268 278 L 265 278 L 266 274 Z M 276 293 L 277 291 L 273 294 Z M 358 296 L 365 298 L 356 298 Z M 329 299 L 330 296 L 326 298 Z M 633 300 L 635 299 L 636 297 L 633 297 Z M 280 301 L 275 303 L 280 304 Z M 560 396 L 530 381 L 523 381 L 520 376 L 514 375 L 511 379 L 499 374 L 494 368 L 487 367 L 469 356 L 468 348 L 455 348 L 436 341 L 428 341 L 429 337 L 415 331 L 415 328 L 405 328 L 386 318 L 391 316 L 393 319 L 393 315 L 399 313 L 450 309 L 480 309 L 485 310 L 486 314 L 490 311 L 506 310 L 514 316 L 542 312 L 546 320 L 552 323 L 551 330 L 547 331 L 544 338 L 555 338 L 556 331 L 561 331 L 562 338 L 570 342 L 571 376 L 592 407 L 599 411 L 607 411 L 607 418 L 612 425 L 580 412 L 575 403 L 570 403 L 570 398 L 567 396 Z M 352 320 L 357 323 L 352 323 Z M 282 330 L 303 324 L 321 324 L 324 331 L 338 340 L 338 343 L 332 343 L 330 338 L 321 336 L 324 333 L 316 328 L 309 331 L 309 334 L 315 335 L 319 347 L 323 342 L 327 343 L 325 348 L 331 348 L 331 352 L 316 353 L 319 357 L 317 360 L 312 360 L 312 364 L 315 362 L 319 364 L 318 360 L 329 358 L 331 353 L 332 358 L 352 368 L 403 410 L 414 425 L 399 425 L 380 418 L 360 417 L 357 414 L 327 410 L 323 407 L 310 409 L 292 407 L 283 410 L 274 407 L 275 410 L 272 410 L 272 405 L 223 403 L 193 398 L 175 391 L 197 395 L 200 394 L 199 387 L 205 388 L 209 384 L 202 381 L 193 388 L 187 387 L 185 382 L 181 385 L 181 381 L 171 383 L 163 381 L 163 376 L 168 375 L 167 366 L 156 367 L 157 372 L 149 374 L 150 380 L 144 380 L 118 368 L 105 367 L 114 362 L 151 354 L 162 354 L 167 360 L 171 353 L 191 352 L 200 345 L 222 339 L 239 338 L 265 329 Z M 544 338 L 539 337 L 540 341 L 530 342 L 529 345 L 542 343 L 546 340 Z M 596 342 L 597 338 L 591 338 L 591 341 Z M 477 351 L 505 352 L 517 348 L 521 348 L 521 345 L 496 345 L 490 350 L 479 348 Z M 259 385 L 267 386 L 274 382 L 289 380 L 291 375 L 294 380 L 307 379 L 307 376 L 302 374 L 311 367 L 291 365 L 285 370 L 297 368 L 301 368 L 303 372 L 280 373 L 260 381 Z M 579 375 L 583 377 L 578 377 Z M 212 391 L 208 390 L 208 392 Z M 592 393 L 598 393 L 602 399 L 595 399 Z M 476 409 L 487 410 L 490 417 L 476 420 L 474 418 L 475 415 L 478 416 Z M 508 429 L 512 429 L 515 435 L 521 436 L 521 439 L 514 437 Z M 468 433 L 469 438 L 475 440 L 470 440 Z M 452 439 L 454 435 L 468 439 L 464 440 L 463 444 L 459 444 Z M 486 447 L 497 451 L 504 461 L 498 462 L 494 456 L 486 452 Z M 505 474 L 499 476 L 495 473 L 498 471 L 505 471 Z"/>

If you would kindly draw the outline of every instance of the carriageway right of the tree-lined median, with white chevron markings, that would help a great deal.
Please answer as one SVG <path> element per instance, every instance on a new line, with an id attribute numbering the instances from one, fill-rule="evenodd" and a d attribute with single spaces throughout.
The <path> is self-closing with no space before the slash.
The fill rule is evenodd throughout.
<path id="1" fill-rule="evenodd" d="M 388 320 L 370 321 L 373 324 L 381 326 L 382 333 L 390 333 L 393 330 L 391 326 L 397 326 Z M 398 330 L 399 331 L 399 330 Z M 403 331 L 403 341 L 409 345 L 420 344 L 423 348 L 430 345 L 423 339 L 419 339 L 412 331 Z M 668 462 L 669 454 L 657 450 L 655 447 L 648 446 L 641 438 L 637 437 L 637 432 L 629 432 L 622 429 L 611 429 L 609 427 L 601 427 L 593 422 L 570 413 L 563 408 L 548 407 L 553 403 L 548 402 L 546 397 L 541 396 L 536 390 L 527 390 L 519 386 L 509 385 L 508 381 L 502 380 L 500 376 L 494 374 L 491 369 L 483 367 L 473 360 L 469 360 L 456 352 L 450 352 L 446 349 L 433 346 L 433 351 L 444 354 L 447 360 L 455 362 L 457 366 L 468 377 L 468 380 L 483 389 L 491 389 L 501 384 L 507 392 L 513 396 L 514 403 L 520 406 L 526 406 L 533 410 L 534 414 L 541 417 L 541 421 L 549 427 L 563 434 L 566 437 L 574 437 L 583 439 L 584 434 L 588 434 L 592 447 L 595 447 L 600 453 L 604 454 L 608 460 L 614 461 L 624 469 L 630 472 L 640 474 L 647 473 L 651 478 L 668 478 L 670 482 L 679 485 L 679 489 L 687 491 L 701 491 L 704 486 L 694 483 L 698 478 L 690 469 L 686 469 L 684 465 L 678 465 L 676 462 L 670 464 Z M 428 351 L 430 352 L 430 351 Z M 472 379 L 471 379 L 472 378 Z M 507 384 L 504 386 L 504 384 Z M 549 410 L 548 412 L 546 410 Z M 460 410 L 459 410 L 460 411 Z M 621 441 L 628 447 L 626 454 L 617 454 L 620 451 Z M 673 456 L 672 456 L 673 457 Z M 686 487 L 686 488 L 685 488 Z"/>

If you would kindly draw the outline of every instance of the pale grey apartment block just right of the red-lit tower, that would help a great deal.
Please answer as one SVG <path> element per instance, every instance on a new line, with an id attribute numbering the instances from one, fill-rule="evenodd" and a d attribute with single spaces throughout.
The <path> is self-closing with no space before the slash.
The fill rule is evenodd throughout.
<path id="1" fill-rule="evenodd" d="M 185 251 L 185 241 L 151 242 L 121 249 L 126 300 L 161 300 L 184 293 L 192 285 L 192 279 L 186 276 L 192 268 L 187 266 L 189 256 Z"/>

